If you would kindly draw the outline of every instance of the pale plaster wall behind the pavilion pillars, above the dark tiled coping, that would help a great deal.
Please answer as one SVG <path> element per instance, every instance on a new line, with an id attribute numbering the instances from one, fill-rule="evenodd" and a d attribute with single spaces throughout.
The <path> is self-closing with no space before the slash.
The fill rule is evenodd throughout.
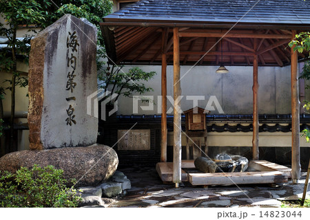
<path id="1" fill-rule="evenodd" d="M 139 66 L 145 72 L 155 71 L 157 74 L 152 80 L 143 82 L 154 91 L 143 96 L 154 96 L 154 108 L 143 110 L 141 107 L 149 104 L 138 102 L 138 114 L 159 114 L 161 103 L 161 66 Z M 124 67 L 127 71 L 130 67 Z M 210 96 L 216 96 L 220 107 L 225 114 L 251 114 L 253 111 L 252 85 L 253 67 L 227 67 L 229 74 L 216 74 L 217 67 L 190 67 L 181 66 L 181 109 L 186 111 L 193 107 L 193 101 L 186 96 L 204 96 L 204 100 L 198 100 L 198 106 L 205 109 Z M 258 68 L 258 107 L 259 113 L 284 114 L 291 113 L 291 67 L 259 67 Z M 167 67 L 167 96 L 173 96 L 173 67 Z M 306 89 L 306 98 L 310 98 L 310 90 Z M 138 96 L 138 94 L 136 94 Z M 159 97 L 159 100 L 161 98 Z M 118 114 L 131 115 L 133 111 L 133 98 L 120 97 L 118 99 Z M 167 101 L 167 109 L 172 107 Z M 214 102 L 211 104 L 214 110 L 211 113 L 220 113 Z M 158 111 L 159 108 L 159 111 Z M 173 112 L 171 112 L 173 113 Z"/>

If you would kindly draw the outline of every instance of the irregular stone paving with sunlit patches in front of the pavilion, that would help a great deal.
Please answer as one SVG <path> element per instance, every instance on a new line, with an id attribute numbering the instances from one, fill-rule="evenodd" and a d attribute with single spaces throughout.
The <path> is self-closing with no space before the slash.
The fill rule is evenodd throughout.
<path id="1" fill-rule="evenodd" d="M 155 168 L 126 168 L 121 170 L 132 183 L 127 195 L 105 207 L 127 208 L 246 208 L 280 207 L 281 200 L 297 198 L 304 184 L 267 184 L 236 186 L 191 186 L 184 183 L 180 188 L 163 184 Z M 301 181 L 302 182 L 302 181 Z M 310 195 L 310 192 L 308 192 Z"/>

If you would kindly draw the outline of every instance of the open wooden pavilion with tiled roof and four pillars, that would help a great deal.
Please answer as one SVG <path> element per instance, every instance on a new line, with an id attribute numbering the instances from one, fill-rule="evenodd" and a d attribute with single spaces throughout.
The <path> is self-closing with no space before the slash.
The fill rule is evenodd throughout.
<path id="1" fill-rule="evenodd" d="M 288 47 L 310 30 L 310 2 L 302 0 L 143 0 L 103 18 L 110 61 L 162 65 L 161 162 L 167 160 L 167 65 L 174 65 L 174 100 L 180 65 L 253 66 L 253 159 L 258 151 L 258 66 L 291 65 L 291 177 L 300 179 L 298 54 Z M 189 73 L 190 74 L 190 73 Z M 181 182 L 180 104 L 174 102 L 173 182 Z"/>

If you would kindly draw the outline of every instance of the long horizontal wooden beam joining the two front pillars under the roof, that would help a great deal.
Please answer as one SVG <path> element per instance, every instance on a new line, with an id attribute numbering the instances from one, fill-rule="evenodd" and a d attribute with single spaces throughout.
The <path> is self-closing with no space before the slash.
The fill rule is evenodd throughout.
<path id="1" fill-rule="evenodd" d="M 291 39 L 291 35 L 284 34 L 249 34 L 249 33 L 221 33 L 221 32 L 180 32 L 179 37 L 225 37 L 240 39 Z"/>

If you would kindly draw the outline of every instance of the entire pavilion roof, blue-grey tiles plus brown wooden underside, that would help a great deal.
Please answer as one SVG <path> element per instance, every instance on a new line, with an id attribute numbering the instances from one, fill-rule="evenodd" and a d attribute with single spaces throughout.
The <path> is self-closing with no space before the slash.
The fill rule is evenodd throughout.
<path id="1" fill-rule="evenodd" d="M 143 0 L 108 15 L 101 28 L 116 63 L 160 64 L 163 32 L 172 63 L 172 28 L 178 27 L 183 65 L 251 65 L 258 39 L 259 65 L 283 66 L 290 63 L 291 30 L 310 30 L 309 11 L 310 1 L 302 0 Z"/>

